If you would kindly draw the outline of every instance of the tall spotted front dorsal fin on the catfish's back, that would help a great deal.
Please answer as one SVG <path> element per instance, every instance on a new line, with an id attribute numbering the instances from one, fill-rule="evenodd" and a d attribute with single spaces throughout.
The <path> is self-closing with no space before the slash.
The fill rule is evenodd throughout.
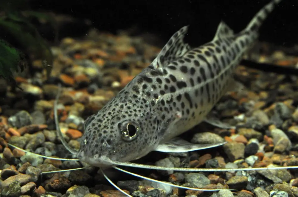
<path id="1" fill-rule="evenodd" d="M 187 34 L 188 26 L 184 26 L 177 31 L 162 48 L 153 61 L 156 69 L 167 66 L 167 62 L 181 57 L 190 50 L 190 46 L 184 43 L 184 36 Z"/>

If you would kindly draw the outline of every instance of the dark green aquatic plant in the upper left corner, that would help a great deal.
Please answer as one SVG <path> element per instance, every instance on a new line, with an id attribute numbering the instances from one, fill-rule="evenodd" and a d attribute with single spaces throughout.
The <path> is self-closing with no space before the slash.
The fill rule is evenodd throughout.
<path id="1" fill-rule="evenodd" d="M 55 28 L 55 19 L 42 12 L 27 11 L 27 1 L 0 3 L 0 77 L 14 82 L 13 72 L 22 72 L 33 60 L 44 62 L 49 78 L 53 54 L 48 42 L 31 23 L 32 18 L 48 21 Z"/>

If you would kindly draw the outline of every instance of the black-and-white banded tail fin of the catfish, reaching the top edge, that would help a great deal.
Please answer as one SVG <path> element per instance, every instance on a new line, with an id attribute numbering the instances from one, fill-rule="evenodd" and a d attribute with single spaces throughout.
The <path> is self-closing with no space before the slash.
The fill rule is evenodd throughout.
<path id="1" fill-rule="evenodd" d="M 267 16 L 272 12 L 277 4 L 282 0 L 272 0 L 266 6 L 264 6 L 250 21 L 248 26 L 243 31 L 258 31 L 260 26 L 263 24 Z"/>

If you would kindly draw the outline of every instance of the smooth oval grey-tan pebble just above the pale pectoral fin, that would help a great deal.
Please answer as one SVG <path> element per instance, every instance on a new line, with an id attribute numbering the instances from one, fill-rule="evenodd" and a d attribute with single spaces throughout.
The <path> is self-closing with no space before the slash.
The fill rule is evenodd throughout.
<path id="1" fill-rule="evenodd" d="M 211 133 L 211 132 L 203 132 L 196 133 L 193 138 L 190 140 L 191 143 L 194 144 L 214 144 L 219 142 L 224 142 L 224 138 L 221 136 Z"/>

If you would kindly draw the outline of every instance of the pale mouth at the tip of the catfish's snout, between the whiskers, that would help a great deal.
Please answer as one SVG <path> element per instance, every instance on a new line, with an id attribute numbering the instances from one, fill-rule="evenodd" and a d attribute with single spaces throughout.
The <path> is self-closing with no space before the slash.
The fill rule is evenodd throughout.
<path id="1" fill-rule="evenodd" d="M 95 166 L 95 167 L 111 167 L 113 165 L 115 165 L 116 163 L 111 160 L 110 158 L 108 158 L 106 155 L 94 155 L 93 157 L 89 156 L 89 155 L 85 155 L 84 151 L 80 152 L 77 157 L 85 162 L 88 163 L 91 166 Z"/>

